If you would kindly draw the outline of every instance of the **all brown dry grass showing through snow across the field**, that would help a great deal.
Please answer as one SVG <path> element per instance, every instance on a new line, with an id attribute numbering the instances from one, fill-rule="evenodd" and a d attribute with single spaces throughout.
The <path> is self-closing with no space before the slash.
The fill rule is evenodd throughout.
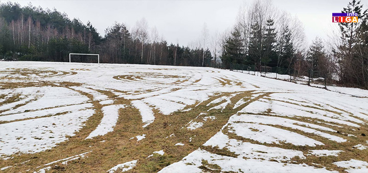
<path id="1" fill-rule="evenodd" d="M 9 69 L 11 70 L 11 69 Z M 14 69 L 13 69 L 14 70 Z M 73 70 L 73 69 L 72 69 Z M 77 70 L 77 69 L 74 69 Z M 157 69 L 155 69 L 157 70 Z M 14 70 L 16 71 L 16 70 Z M 36 72 L 34 72 L 36 73 Z M 29 75 L 30 73 L 25 73 L 22 75 Z M 54 74 L 54 73 L 53 73 Z M 65 72 L 62 75 L 73 75 L 74 73 Z M 147 75 L 147 74 L 143 74 Z M 182 78 L 180 76 L 174 75 L 162 75 L 162 74 L 148 74 L 150 76 L 163 76 L 167 78 L 180 78 L 176 80 L 174 84 L 180 83 L 183 81 L 188 81 L 187 78 Z M 134 76 L 134 78 L 133 78 Z M 143 82 L 148 83 L 160 83 L 156 81 L 149 81 L 144 80 L 140 75 L 123 75 L 123 76 L 114 76 L 114 79 L 118 80 L 131 80 L 136 81 L 137 79 L 143 80 Z M 200 79 L 194 81 L 194 83 L 199 82 Z M 221 78 L 219 80 L 222 85 L 232 85 L 234 81 Z M 237 85 L 241 85 L 241 83 L 235 83 Z M 18 87 L 28 87 L 28 86 L 63 86 L 66 88 L 70 88 L 70 86 L 80 86 L 81 83 L 72 83 L 72 82 L 60 82 L 60 83 L 48 83 L 48 82 L 0 82 L 1 89 L 13 89 Z M 255 86 L 259 88 L 258 86 Z M 180 88 L 175 88 L 172 91 L 177 91 Z M 71 89 L 73 90 L 73 89 Z M 67 157 L 75 156 L 81 153 L 85 153 L 88 151 L 92 151 L 86 154 L 87 157 L 79 158 L 73 161 L 68 162 L 67 165 L 62 165 L 60 162 L 51 164 L 52 170 L 51 172 L 105 172 L 106 170 L 110 169 L 111 167 L 121 164 L 124 162 L 137 160 L 136 166 L 130 170 L 130 172 L 156 172 L 174 162 L 181 160 L 183 157 L 187 156 L 194 150 L 198 148 L 204 149 L 214 154 L 219 154 L 222 156 L 229 156 L 229 157 L 238 157 L 237 154 L 230 152 L 228 149 L 223 148 L 219 149 L 218 147 L 206 147 L 202 146 L 205 141 L 210 139 L 213 135 L 215 135 L 220 129 L 227 123 L 229 117 L 233 114 L 236 114 L 239 110 L 250 104 L 251 102 L 257 101 L 260 98 L 265 98 L 272 93 L 264 93 L 254 99 L 250 99 L 252 95 L 252 91 L 247 92 L 239 92 L 236 93 L 236 96 L 231 98 L 232 103 L 228 104 L 224 110 L 210 110 L 207 111 L 209 108 L 214 106 L 211 104 L 210 106 L 206 106 L 211 101 L 220 98 L 222 96 L 229 96 L 234 93 L 224 93 L 221 95 L 217 95 L 207 101 L 200 103 L 198 106 L 194 104 L 191 106 L 187 106 L 185 109 L 191 108 L 190 111 L 187 112 L 174 112 L 169 116 L 166 116 L 160 113 L 158 110 L 154 109 L 154 116 L 155 121 L 143 128 L 142 126 L 142 118 L 140 115 L 139 110 L 134 108 L 130 105 L 131 100 L 126 100 L 124 98 L 117 97 L 111 91 L 105 90 L 96 90 L 102 94 L 107 95 L 110 99 L 114 100 L 113 104 L 125 104 L 128 105 L 124 109 L 119 110 L 119 119 L 114 127 L 114 131 L 107 133 L 104 136 L 97 136 L 93 139 L 85 138 L 90 134 L 91 131 L 95 130 L 96 127 L 101 122 L 103 118 L 102 113 L 102 105 L 98 101 L 93 101 L 93 96 L 84 93 L 81 91 L 77 91 L 80 94 L 88 97 L 90 99 L 90 103 L 93 104 L 93 108 L 95 113 L 91 116 L 86 122 L 85 126 L 79 131 L 76 132 L 75 136 L 68 136 L 68 140 L 61 142 L 58 144 L 57 147 L 54 147 L 52 150 L 47 150 L 45 152 L 34 153 L 34 154 L 14 154 L 11 157 L 13 159 L 9 160 L 2 160 L 0 162 L 0 167 L 5 167 L 9 165 L 13 165 L 6 169 L 9 172 L 20 172 L 26 171 L 30 169 L 30 172 L 37 171 L 38 169 L 44 167 L 44 164 L 50 163 L 55 160 L 64 159 Z M 115 92 L 126 93 L 124 91 L 114 90 Z M 152 90 L 148 91 L 141 91 L 139 93 L 144 92 L 151 92 Z M 0 96 L 5 98 L 5 96 Z M 12 98 L 7 99 L 7 103 L 11 103 L 17 100 L 19 96 L 13 96 Z M 239 106 L 236 109 L 233 109 L 234 104 L 239 101 L 240 99 L 248 98 L 250 99 L 245 104 Z M 271 100 L 271 99 L 269 99 Z M 217 103 L 219 105 L 224 101 Z M 284 101 L 289 104 L 295 104 L 291 102 Z M 301 102 L 301 101 L 298 101 Z M 4 103 L 0 103 L 5 104 Z M 336 110 L 325 109 L 321 105 L 316 106 L 307 106 L 303 104 L 296 104 L 298 106 L 305 106 L 313 109 L 319 109 L 323 111 L 329 111 L 338 114 L 336 110 L 344 111 L 338 108 Z M 200 113 L 205 112 L 208 114 L 198 116 Z M 347 111 L 344 111 L 347 112 Z M 347 112 L 349 113 L 349 112 Z M 334 169 L 340 172 L 343 172 L 342 168 L 337 167 L 336 165 L 332 164 L 336 161 L 341 160 L 350 160 L 351 158 L 368 161 L 368 150 L 357 150 L 353 149 L 353 146 L 361 143 L 365 143 L 366 136 L 362 136 L 361 134 L 368 134 L 368 129 L 366 127 L 361 128 L 352 128 L 349 126 L 344 126 L 341 124 L 325 122 L 319 119 L 312 119 L 312 118 L 302 118 L 302 117 L 284 117 L 272 112 L 271 109 L 268 109 L 265 112 L 261 112 L 258 114 L 262 114 L 264 116 L 273 116 L 273 117 L 282 117 L 291 120 L 296 120 L 300 122 L 307 122 L 313 123 L 321 126 L 326 126 L 329 128 L 333 128 L 336 132 L 330 131 L 323 131 L 325 133 L 329 133 L 332 135 L 340 136 L 343 138 L 348 139 L 347 142 L 338 143 L 332 140 L 329 140 L 324 137 L 320 137 L 314 134 L 306 133 L 301 130 L 296 130 L 284 126 L 278 125 L 268 125 L 273 126 L 275 128 L 285 129 L 291 132 L 295 132 L 298 134 L 305 135 L 309 138 L 318 140 L 323 142 L 324 146 L 316 146 L 316 147 L 308 147 L 308 146 L 294 146 L 291 143 L 280 142 L 280 144 L 276 143 L 261 143 L 257 140 L 252 140 L 248 138 L 244 138 L 238 136 L 234 133 L 231 133 L 229 130 L 229 126 L 225 127 L 222 131 L 224 134 L 228 135 L 229 138 L 241 140 L 244 142 L 255 143 L 258 145 L 264 145 L 268 147 L 279 147 L 283 149 L 291 149 L 291 150 L 298 150 L 304 152 L 306 155 L 305 159 L 301 159 L 298 157 L 292 158 L 290 161 L 285 161 L 285 163 L 306 163 L 311 166 L 316 166 L 315 164 L 320 164 L 321 166 L 326 167 L 327 169 Z M 364 113 L 363 113 L 364 114 Z M 53 115 L 56 116 L 56 115 Z M 206 116 L 214 116 L 216 117 L 215 120 L 207 120 L 204 121 L 203 117 Z M 352 115 L 353 116 L 353 115 Z M 201 122 L 203 126 L 195 129 L 195 130 L 188 130 L 187 124 L 190 122 Z M 5 123 L 5 122 L 2 122 Z M 323 124 L 323 123 L 329 123 Z M 0 123 L 1 124 L 1 123 Z M 336 127 L 333 125 L 339 125 L 341 127 Z M 352 130 L 352 129 L 355 129 Z M 251 129 L 257 131 L 257 129 Z M 136 138 L 130 139 L 137 135 L 146 134 L 146 138 L 140 141 L 137 141 Z M 171 137 L 169 137 L 171 134 Z M 347 136 L 347 134 L 353 134 L 354 136 Z M 191 140 L 190 140 L 191 139 Z M 100 142 L 104 140 L 105 142 Z M 174 146 L 176 143 L 183 143 L 184 146 Z M 325 157 L 317 157 L 313 155 L 307 155 L 309 150 L 342 150 L 344 152 L 340 153 L 339 156 L 325 156 Z M 164 150 L 164 155 L 154 154 L 152 157 L 147 158 L 149 155 L 153 154 L 154 151 Z M 263 151 L 256 151 L 259 153 L 263 153 Z M 29 161 L 28 161 L 29 160 Z M 27 162 L 25 162 L 27 161 Z M 270 160 L 270 161 L 277 161 L 277 160 Z M 24 163 L 22 163 L 24 162 Z M 58 166 L 55 166 L 58 165 Z M 36 167 L 41 166 L 36 169 Z M 221 167 L 216 164 L 209 164 L 208 161 L 202 160 L 202 165 L 199 167 L 203 171 L 208 172 L 220 172 Z M 240 170 L 239 170 L 240 171 Z"/>

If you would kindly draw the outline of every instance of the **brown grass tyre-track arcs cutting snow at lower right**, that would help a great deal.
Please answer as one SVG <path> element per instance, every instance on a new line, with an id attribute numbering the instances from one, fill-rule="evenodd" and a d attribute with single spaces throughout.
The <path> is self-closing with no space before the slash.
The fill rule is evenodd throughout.
<path id="1" fill-rule="evenodd" d="M 271 116 L 268 113 L 264 113 L 263 115 L 264 116 Z M 301 122 L 313 123 L 313 121 L 311 121 L 310 119 L 290 118 L 290 117 L 283 117 L 283 116 L 278 116 L 278 117 L 282 117 L 282 118 L 285 118 L 285 119 L 292 119 L 292 120 L 301 121 Z M 321 120 L 318 120 L 318 121 L 321 121 Z M 317 123 L 314 123 L 314 124 L 317 124 Z M 290 161 L 285 161 L 285 163 L 296 163 L 296 164 L 306 163 L 310 166 L 315 166 L 315 167 L 316 167 L 316 164 L 318 164 L 319 167 L 326 167 L 329 170 L 338 170 L 340 172 L 343 172 L 343 170 L 344 170 L 343 168 L 337 167 L 335 164 L 332 164 L 332 163 L 337 162 L 337 161 L 350 160 L 350 159 L 368 161 L 368 150 L 358 150 L 358 149 L 353 148 L 353 146 L 358 145 L 358 144 L 364 144 L 364 143 L 366 143 L 366 140 L 368 140 L 368 138 L 366 138 L 366 136 L 360 135 L 361 133 L 366 134 L 368 132 L 366 128 L 359 128 L 359 129 L 356 129 L 354 131 L 354 130 L 351 130 L 352 127 L 350 127 L 350 126 L 339 124 L 339 126 L 343 126 L 343 127 L 338 128 L 336 126 L 330 126 L 330 128 L 336 129 L 336 132 L 330 132 L 330 131 L 324 131 L 324 130 L 316 129 L 316 130 L 319 130 L 319 131 L 322 131 L 322 132 L 325 132 L 325 133 L 329 133 L 329 134 L 332 134 L 332 135 L 335 135 L 335 136 L 339 136 L 339 137 L 348 139 L 347 142 L 339 143 L 339 142 L 329 140 L 325 137 L 321 137 L 321 136 L 311 134 L 311 133 L 307 133 L 307 132 L 297 130 L 297 129 L 292 129 L 292 128 L 289 128 L 289 127 L 284 127 L 284 126 L 280 126 L 280 125 L 269 125 L 269 124 L 263 124 L 263 125 L 268 125 L 268 126 L 288 130 L 288 131 L 291 131 L 291 132 L 295 132 L 295 133 L 298 133 L 298 134 L 302 134 L 302 135 L 307 136 L 309 138 L 320 141 L 320 142 L 324 143 L 325 145 L 316 146 L 316 147 L 294 146 L 291 143 L 285 143 L 285 142 L 282 142 L 282 141 L 280 141 L 280 144 L 277 144 L 277 143 L 262 143 L 262 142 L 259 142 L 257 140 L 252 140 L 252 139 L 243 138 L 241 136 L 237 136 L 236 134 L 229 132 L 228 127 L 225 127 L 223 132 L 226 135 L 228 135 L 229 137 L 237 139 L 237 140 L 241 140 L 241 141 L 244 141 L 244 142 L 255 143 L 255 144 L 258 144 L 258 145 L 264 145 L 264 146 L 267 146 L 267 147 L 278 147 L 278 148 L 289 149 L 289 150 L 298 150 L 298 151 L 304 152 L 304 154 L 306 156 L 306 159 L 301 159 L 301 158 L 295 157 L 295 158 L 291 159 Z M 346 133 L 354 134 L 357 137 L 354 137 L 354 136 L 348 137 Z M 309 150 L 342 150 L 343 152 L 341 152 L 338 156 L 320 156 L 320 157 L 317 157 L 317 156 L 309 154 L 309 152 L 308 152 Z"/>

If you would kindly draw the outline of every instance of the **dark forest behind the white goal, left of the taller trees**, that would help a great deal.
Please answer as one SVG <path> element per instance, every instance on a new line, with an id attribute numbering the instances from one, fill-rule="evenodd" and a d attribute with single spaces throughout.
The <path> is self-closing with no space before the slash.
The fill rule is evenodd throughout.
<path id="1" fill-rule="evenodd" d="M 168 44 L 145 19 L 131 31 L 114 23 L 101 37 L 88 21 L 69 19 L 56 9 L 0 4 L 0 59 L 68 62 L 69 53 L 99 53 L 102 63 L 212 66 L 209 48 Z M 81 59 L 85 60 L 81 60 Z M 93 61 L 75 57 L 75 61 Z"/>

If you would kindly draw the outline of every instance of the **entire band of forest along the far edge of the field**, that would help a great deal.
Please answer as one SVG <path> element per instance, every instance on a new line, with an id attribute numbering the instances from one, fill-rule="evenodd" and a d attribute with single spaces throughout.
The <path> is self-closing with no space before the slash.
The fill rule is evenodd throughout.
<path id="1" fill-rule="evenodd" d="M 68 62 L 68 53 L 99 53 L 102 63 L 205 66 L 325 77 L 368 88 L 367 10 L 352 0 L 341 13 L 358 13 L 357 23 L 338 23 L 333 41 L 315 38 L 308 46 L 303 23 L 270 1 L 254 1 L 239 10 L 237 22 L 209 36 L 206 25 L 193 45 L 179 46 L 159 36 L 155 27 L 139 20 L 128 31 L 113 23 L 104 36 L 90 22 L 65 13 L 29 5 L 0 4 L 0 59 Z M 336 23 L 337 25 L 337 23 Z M 76 56 L 76 62 L 82 60 Z M 265 70 L 266 69 L 266 70 Z"/>

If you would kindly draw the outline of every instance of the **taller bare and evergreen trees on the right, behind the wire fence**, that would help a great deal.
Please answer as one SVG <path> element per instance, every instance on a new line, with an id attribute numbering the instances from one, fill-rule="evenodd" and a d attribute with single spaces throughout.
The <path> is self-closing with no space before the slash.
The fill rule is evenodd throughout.
<path id="1" fill-rule="evenodd" d="M 302 23 L 274 8 L 269 1 L 254 1 L 240 11 L 237 23 L 224 33 L 221 60 L 234 64 L 269 67 L 294 76 L 323 77 L 336 84 L 368 89 L 367 10 L 352 0 L 341 13 L 357 13 L 358 22 L 338 23 L 339 32 L 326 42 L 316 37 L 307 47 Z"/>

